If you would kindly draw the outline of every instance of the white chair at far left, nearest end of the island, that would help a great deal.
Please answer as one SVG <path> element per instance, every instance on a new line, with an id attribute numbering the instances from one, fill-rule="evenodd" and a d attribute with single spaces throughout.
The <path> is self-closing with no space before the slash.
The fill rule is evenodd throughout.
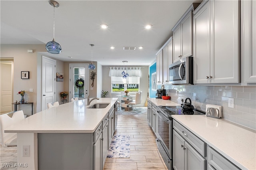
<path id="1" fill-rule="evenodd" d="M 14 112 L 12 117 L 8 116 L 8 114 L 10 113 L 0 116 L 1 143 L 3 147 L 17 146 L 17 133 L 6 133 L 4 130 L 25 119 L 22 110 Z"/>

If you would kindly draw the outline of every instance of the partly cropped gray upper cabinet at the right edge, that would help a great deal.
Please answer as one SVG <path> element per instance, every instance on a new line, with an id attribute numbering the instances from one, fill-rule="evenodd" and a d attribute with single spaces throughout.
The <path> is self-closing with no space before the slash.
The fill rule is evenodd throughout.
<path id="1" fill-rule="evenodd" d="M 256 1 L 241 1 L 241 57 L 245 83 L 256 83 Z"/>

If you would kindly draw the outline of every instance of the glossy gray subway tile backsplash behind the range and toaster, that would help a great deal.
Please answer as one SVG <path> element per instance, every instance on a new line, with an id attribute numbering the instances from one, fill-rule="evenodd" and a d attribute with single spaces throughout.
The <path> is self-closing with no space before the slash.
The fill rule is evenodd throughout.
<path id="1" fill-rule="evenodd" d="M 222 118 L 256 130 L 255 86 L 165 85 L 171 100 L 180 103 L 189 97 L 196 109 L 206 111 L 206 104 L 221 105 Z M 234 108 L 228 107 L 234 98 Z"/>

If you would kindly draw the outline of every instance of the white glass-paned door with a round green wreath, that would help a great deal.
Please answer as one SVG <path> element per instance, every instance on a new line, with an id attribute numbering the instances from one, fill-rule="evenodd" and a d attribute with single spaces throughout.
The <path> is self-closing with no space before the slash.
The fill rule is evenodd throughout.
<path id="1" fill-rule="evenodd" d="M 70 99 L 73 97 L 78 97 L 78 99 L 87 99 L 88 97 L 88 84 L 89 84 L 89 72 L 88 72 L 88 64 L 70 64 L 70 72 L 69 72 L 69 91 L 70 91 Z M 75 82 L 77 79 L 84 79 L 84 87 L 77 88 L 75 86 Z"/>

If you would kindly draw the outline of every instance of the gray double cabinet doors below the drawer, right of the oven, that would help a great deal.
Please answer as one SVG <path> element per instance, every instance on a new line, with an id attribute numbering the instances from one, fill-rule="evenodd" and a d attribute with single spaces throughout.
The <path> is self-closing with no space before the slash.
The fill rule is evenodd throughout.
<path id="1" fill-rule="evenodd" d="M 206 159 L 175 130 L 173 130 L 173 168 L 174 170 L 206 170 Z"/>

